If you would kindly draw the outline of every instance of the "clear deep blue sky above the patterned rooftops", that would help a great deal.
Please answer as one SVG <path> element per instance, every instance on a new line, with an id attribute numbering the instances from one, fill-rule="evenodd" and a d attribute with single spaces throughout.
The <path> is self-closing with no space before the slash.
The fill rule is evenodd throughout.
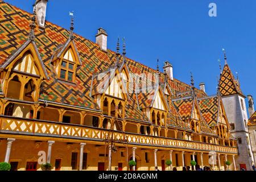
<path id="1" fill-rule="evenodd" d="M 5 0 L 32 12 L 35 0 Z M 208 15 L 209 3 L 217 5 L 217 17 Z M 108 48 L 115 50 L 117 37 L 126 38 L 127 57 L 156 68 L 159 59 L 174 66 L 174 77 L 196 86 L 205 82 L 208 94 L 216 93 L 224 65 L 222 48 L 234 75 L 238 72 L 243 93 L 256 99 L 256 1 L 232 0 L 49 0 L 47 20 L 69 28 L 74 11 L 75 32 L 95 41 L 97 28 L 108 32 Z"/>

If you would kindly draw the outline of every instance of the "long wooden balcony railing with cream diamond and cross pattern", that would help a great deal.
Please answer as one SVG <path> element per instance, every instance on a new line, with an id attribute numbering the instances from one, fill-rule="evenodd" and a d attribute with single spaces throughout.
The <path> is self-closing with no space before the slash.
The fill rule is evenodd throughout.
<path id="1" fill-rule="evenodd" d="M 99 140 L 106 138 L 108 130 L 59 122 L 38 121 L 32 119 L 0 116 L 0 133 L 33 134 L 45 137 L 69 137 L 75 139 Z M 193 142 L 147 135 L 121 133 L 114 131 L 115 139 L 127 138 L 129 144 L 184 148 L 187 150 L 216 151 L 238 154 L 237 147 L 219 146 L 210 143 Z"/>

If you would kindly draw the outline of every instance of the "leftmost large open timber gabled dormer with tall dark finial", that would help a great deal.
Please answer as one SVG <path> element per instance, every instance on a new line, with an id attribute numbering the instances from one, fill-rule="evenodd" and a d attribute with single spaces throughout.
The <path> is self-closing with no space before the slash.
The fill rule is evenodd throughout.
<path id="1" fill-rule="evenodd" d="M 28 40 L 1 65 L 1 79 L 6 98 L 36 102 L 48 75 L 34 41 L 35 13 L 30 27 Z"/>

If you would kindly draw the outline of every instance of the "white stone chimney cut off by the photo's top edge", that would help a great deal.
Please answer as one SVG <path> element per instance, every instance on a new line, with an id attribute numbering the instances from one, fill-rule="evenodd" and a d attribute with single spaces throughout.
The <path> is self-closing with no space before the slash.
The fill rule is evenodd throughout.
<path id="1" fill-rule="evenodd" d="M 44 23 L 46 23 L 46 7 L 48 0 L 36 0 L 34 10 L 36 10 L 36 20 L 38 26 L 44 29 Z"/>

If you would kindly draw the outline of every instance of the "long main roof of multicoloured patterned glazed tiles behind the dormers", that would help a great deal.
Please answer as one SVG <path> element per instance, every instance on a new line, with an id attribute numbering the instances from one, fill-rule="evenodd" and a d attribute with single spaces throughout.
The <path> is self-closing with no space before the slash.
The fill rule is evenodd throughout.
<path id="1" fill-rule="evenodd" d="M 0 65 L 5 63 L 10 55 L 27 41 L 30 32 L 29 25 L 31 17 L 32 15 L 30 13 L 0 1 Z M 67 44 L 69 31 L 47 21 L 44 32 L 40 31 L 38 27 L 35 28 L 36 47 L 49 76 L 48 80 L 42 82 L 40 100 L 100 110 L 96 104 L 96 100 L 90 95 L 93 92 L 91 85 L 94 85 L 92 76 L 96 75 L 96 73 L 108 71 L 110 67 L 115 65 L 115 52 L 109 49 L 104 52 L 98 44 L 80 35 L 73 35 L 75 37 L 73 41 L 79 53 L 81 66 L 77 68 L 75 82 L 69 83 L 57 79 L 55 69 L 51 64 L 52 58 L 56 57 L 65 44 Z M 126 60 L 127 68 L 131 73 L 144 73 L 146 75 L 158 73 L 156 70 L 146 67 L 137 61 L 128 58 Z M 163 73 L 160 73 L 160 82 L 164 82 Z M 185 97 L 191 90 L 191 86 L 175 78 L 174 80 L 168 78 L 167 83 L 170 85 L 173 94 L 172 97 Z M 195 89 L 195 93 L 198 98 L 207 96 L 206 93 L 199 89 Z M 147 94 L 129 94 L 129 100 L 126 105 L 127 118 L 148 121 L 144 112 L 141 111 L 141 107 L 148 106 L 151 103 L 145 98 L 147 98 Z M 170 106 L 168 125 L 189 129 L 187 123 L 183 121 L 188 115 L 187 112 L 191 110 L 192 106 L 189 103 L 191 101 L 187 99 L 184 100 L 183 104 L 180 104 L 181 107 L 185 108 L 184 113 L 181 113 L 181 115 L 176 111 L 174 106 Z M 207 126 L 205 125 L 203 127 Z"/>

